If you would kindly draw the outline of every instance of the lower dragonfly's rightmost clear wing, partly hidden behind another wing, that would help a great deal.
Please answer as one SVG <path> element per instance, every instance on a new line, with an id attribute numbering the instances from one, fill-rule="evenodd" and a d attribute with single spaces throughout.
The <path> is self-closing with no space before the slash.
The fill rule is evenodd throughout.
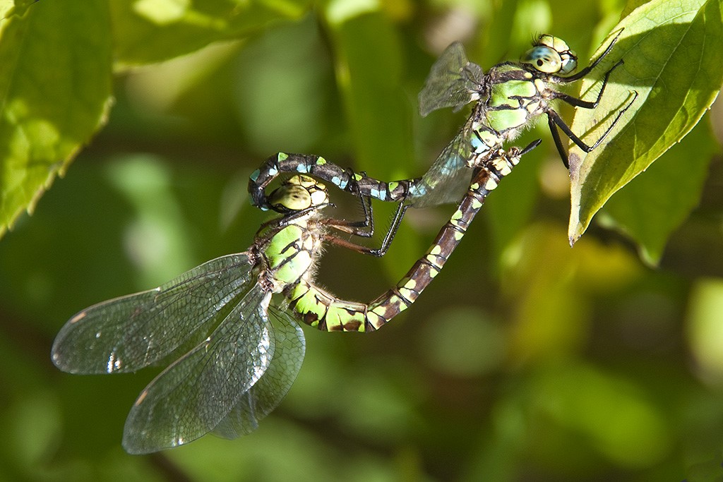
<path id="1" fill-rule="evenodd" d="M 227 439 L 249 434 L 268 416 L 291 389 L 304 361 L 304 332 L 286 311 L 270 306 L 276 348 L 268 369 L 253 387 L 241 395 L 239 403 L 216 426 L 214 433 Z"/>

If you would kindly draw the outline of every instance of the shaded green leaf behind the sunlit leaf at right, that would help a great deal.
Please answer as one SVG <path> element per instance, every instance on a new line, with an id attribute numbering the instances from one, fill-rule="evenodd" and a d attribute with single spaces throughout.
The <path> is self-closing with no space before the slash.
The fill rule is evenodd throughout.
<path id="1" fill-rule="evenodd" d="M 651 165 L 645 176 L 633 179 L 609 199 L 601 223 L 627 233 L 640 246 L 641 258 L 657 264 L 670 233 L 698 205 L 716 150 L 709 124 L 701 122 Z M 681 165 L 685 165 L 683 176 Z"/>

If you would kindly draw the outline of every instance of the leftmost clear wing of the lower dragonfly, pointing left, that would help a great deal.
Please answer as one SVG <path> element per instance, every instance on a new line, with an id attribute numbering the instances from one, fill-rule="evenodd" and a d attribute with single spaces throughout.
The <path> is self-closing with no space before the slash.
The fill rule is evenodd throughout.
<path id="1" fill-rule="evenodd" d="M 79 374 L 136 371 L 196 338 L 255 282 L 245 253 L 212 259 L 150 291 L 115 298 L 76 314 L 58 333 L 53 362 Z"/>

